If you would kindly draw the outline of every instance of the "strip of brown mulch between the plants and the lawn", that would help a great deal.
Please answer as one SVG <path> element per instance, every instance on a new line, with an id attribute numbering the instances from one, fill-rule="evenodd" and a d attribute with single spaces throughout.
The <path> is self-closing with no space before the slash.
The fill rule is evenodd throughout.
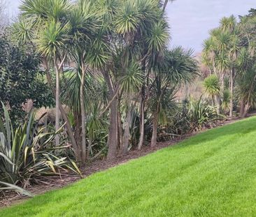
<path id="1" fill-rule="evenodd" d="M 218 123 L 218 126 L 232 124 L 236 120 L 239 120 L 239 118 L 234 118 L 231 120 L 227 119 L 225 121 L 221 121 L 220 123 Z M 129 154 L 127 154 L 126 156 L 118 156 L 113 160 L 94 160 L 92 162 L 87 163 L 87 166 L 85 166 L 85 168 L 83 168 L 81 172 L 83 173 L 83 177 L 86 178 L 91 174 L 94 174 L 95 172 L 107 170 L 110 167 L 115 167 L 116 165 L 127 163 L 127 161 L 131 159 L 140 158 L 141 156 L 148 155 L 159 149 L 175 145 L 178 142 L 187 139 L 188 137 L 196 135 L 197 133 L 198 132 L 182 135 L 167 142 L 158 142 L 156 147 L 144 146 L 141 150 L 131 150 L 129 151 Z M 29 190 L 29 192 L 32 193 L 33 195 L 40 195 L 48 192 L 49 190 L 59 189 L 66 185 L 72 184 L 73 182 L 78 181 L 79 179 L 80 177 L 78 177 L 77 174 L 62 174 L 62 177 L 50 177 L 48 179 L 41 181 L 41 183 L 37 184 L 36 186 L 28 187 L 27 190 Z M 24 200 L 27 200 L 28 198 L 29 197 L 27 196 L 19 195 L 14 192 L 7 192 L 2 197 L 0 196 L 0 208 L 20 203 Z"/>

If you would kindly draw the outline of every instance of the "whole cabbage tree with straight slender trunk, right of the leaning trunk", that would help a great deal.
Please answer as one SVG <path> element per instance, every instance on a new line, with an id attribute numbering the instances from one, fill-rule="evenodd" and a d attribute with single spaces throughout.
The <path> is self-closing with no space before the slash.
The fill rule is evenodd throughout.
<path id="1" fill-rule="evenodd" d="M 76 119 L 80 119 L 79 127 L 76 127 L 75 136 L 80 147 L 80 160 L 85 165 L 86 160 L 86 119 L 85 119 L 85 73 L 89 64 L 87 63 L 89 47 L 96 36 L 98 25 L 100 22 L 97 16 L 96 8 L 92 1 L 78 1 L 68 15 L 71 27 L 71 43 L 69 46 L 69 55 L 71 60 L 76 63 L 76 70 L 80 77 L 80 92 L 78 99 L 79 106 L 73 107 L 74 114 L 78 115 Z M 75 102 L 73 102 L 75 103 Z M 80 132 L 81 129 L 81 132 Z"/>

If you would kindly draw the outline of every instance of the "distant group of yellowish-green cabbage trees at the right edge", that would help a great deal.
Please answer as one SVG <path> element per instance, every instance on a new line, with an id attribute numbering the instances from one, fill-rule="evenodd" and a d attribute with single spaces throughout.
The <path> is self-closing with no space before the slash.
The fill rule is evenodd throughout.
<path id="1" fill-rule="evenodd" d="M 206 78 L 204 86 L 215 98 L 218 112 L 229 111 L 229 117 L 234 111 L 246 117 L 256 102 L 255 29 L 255 10 L 251 9 L 249 15 L 239 17 L 239 22 L 233 15 L 223 17 L 220 27 L 211 30 L 210 38 L 204 41 L 203 62 L 213 74 Z"/>

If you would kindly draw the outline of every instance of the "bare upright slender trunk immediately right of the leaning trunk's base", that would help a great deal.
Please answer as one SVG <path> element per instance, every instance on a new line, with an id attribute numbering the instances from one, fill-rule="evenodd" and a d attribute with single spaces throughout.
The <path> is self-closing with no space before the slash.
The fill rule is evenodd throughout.
<path id="1" fill-rule="evenodd" d="M 82 165 L 85 165 L 86 160 L 86 130 L 85 130 L 85 96 L 84 96 L 84 88 L 85 88 L 85 66 L 83 64 L 82 58 L 82 77 L 81 77 L 81 85 L 80 85 L 80 109 L 81 109 L 81 124 L 82 124 L 82 147 L 81 147 L 81 157 L 82 157 Z"/>

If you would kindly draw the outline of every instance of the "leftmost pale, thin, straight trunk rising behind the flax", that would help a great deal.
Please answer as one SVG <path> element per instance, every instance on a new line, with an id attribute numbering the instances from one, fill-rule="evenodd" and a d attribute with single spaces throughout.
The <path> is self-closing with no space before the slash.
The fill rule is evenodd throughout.
<path id="1" fill-rule="evenodd" d="M 55 95 L 55 102 L 56 102 L 56 114 L 55 114 L 55 130 L 59 130 L 59 68 L 57 65 L 57 58 L 55 57 L 55 73 L 56 73 L 56 95 Z M 59 135 L 55 137 L 55 145 L 59 146 Z"/>

